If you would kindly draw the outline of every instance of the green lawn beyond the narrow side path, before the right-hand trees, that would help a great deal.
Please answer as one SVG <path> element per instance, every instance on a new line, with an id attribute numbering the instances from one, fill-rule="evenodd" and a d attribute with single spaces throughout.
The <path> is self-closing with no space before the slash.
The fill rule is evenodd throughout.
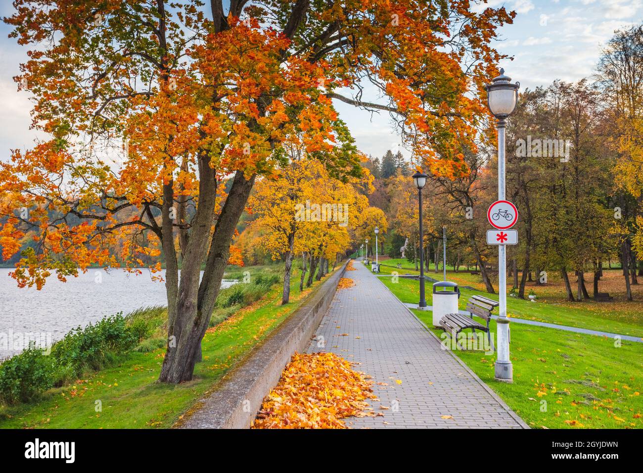
<path id="1" fill-rule="evenodd" d="M 385 274 L 382 266 L 382 273 Z M 431 275 L 430 275 L 431 276 Z M 449 279 L 451 275 L 449 275 Z M 417 303 L 419 300 L 419 281 L 399 277 L 397 283 L 393 278 L 382 277 L 381 281 L 403 302 Z M 441 279 L 441 278 L 440 278 Z M 426 302 L 431 305 L 432 283 L 426 283 Z M 467 299 L 473 294 L 484 295 L 498 301 L 497 294 L 489 294 L 482 291 L 473 291 L 461 288 L 462 293 L 458 305 L 464 309 Z M 507 297 L 507 313 L 509 317 L 519 319 L 538 320 L 552 324 L 568 325 L 572 327 L 588 328 L 620 335 L 631 335 L 643 337 L 643 313 L 632 307 L 630 310 L 622 309 L 623 304 L 611 304 L 600 302 L 580 302 L 575 304 L 557 302 L 531 302 L 529 300 Z M 494 312 L 498 314 L 498 310 Z"/>

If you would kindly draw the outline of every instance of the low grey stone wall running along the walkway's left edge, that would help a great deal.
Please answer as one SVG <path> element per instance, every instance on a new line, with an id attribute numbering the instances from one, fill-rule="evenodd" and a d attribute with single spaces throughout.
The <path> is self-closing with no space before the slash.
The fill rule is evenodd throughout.
<path id="1" fill-rule="evenodd" d="M 293 353 L 303 351 L 328 310 L 345 262 L 313 290 L 308 300 L 224 376 L 213 393 L 190 409 L 182 429 L 247 429 L 264 397 L 275 387 Z"/>

